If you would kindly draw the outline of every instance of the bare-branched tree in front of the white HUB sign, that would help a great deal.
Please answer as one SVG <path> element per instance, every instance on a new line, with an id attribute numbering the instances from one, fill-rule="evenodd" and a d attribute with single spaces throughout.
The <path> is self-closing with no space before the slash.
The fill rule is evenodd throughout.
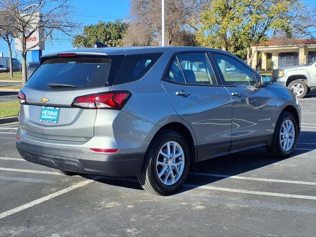
<path id="1" fill-rule="evenodd" d="M 0 0 L 0 8 L 6 9 L 12 19 L 12 34 L 21 41 L 22 49 L 22 85 L 27 81 L 26 56 L 27 52 L 39 46 L 45 40 L 52 40 L 57 33 L 66 36 L 79 27 L 72 19 L 74 7 L 69 4 L 70 0 Z M 3 25 L 3 17 L 0 26 Z M 27 46 L 27 40 L 36 32 L 40 32 L 40 40 Z"/>

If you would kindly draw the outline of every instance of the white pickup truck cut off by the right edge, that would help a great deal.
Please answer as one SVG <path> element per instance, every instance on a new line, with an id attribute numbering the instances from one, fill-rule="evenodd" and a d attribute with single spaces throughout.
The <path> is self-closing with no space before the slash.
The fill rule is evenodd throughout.
<path id="1" fill-rule="evenodd" d="M 273 71 L 276 82 L 291 88 L 297 98 L 316 90 L 316 60 L 307 64 Z"/>

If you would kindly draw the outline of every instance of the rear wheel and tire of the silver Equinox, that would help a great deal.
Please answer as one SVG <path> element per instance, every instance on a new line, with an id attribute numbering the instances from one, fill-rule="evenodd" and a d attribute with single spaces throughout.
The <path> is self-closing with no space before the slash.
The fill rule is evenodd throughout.
<path id="1" fill-rule="evenodd" d="M 174 153 L 179 154 L 181 149 L 182 155 L 177 158 L 166 158 L 160 155 L 160 150 L 165 155 L 168 154 L 167 144 L 170 147 L 170 156 Z M 173 147 L 176 147 L 176 152 L 173 152 Z M 144 190 L 152 194 L 170 195 L 181 188 L 188 176 L 189 167 L 190 151 L 184 137 L 176 131 L 163 130 L 154 137 L 147 150 L 138 181 Z M 176 172 L 177 170 L 179 172 Z M 160 173 L 160 178 L 158 173 Z"/>

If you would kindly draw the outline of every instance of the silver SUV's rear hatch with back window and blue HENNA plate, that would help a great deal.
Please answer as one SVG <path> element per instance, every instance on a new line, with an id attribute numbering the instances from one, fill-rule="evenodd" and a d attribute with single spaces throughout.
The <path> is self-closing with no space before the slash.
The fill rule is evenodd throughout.
<path id="1" fill-rule="evenodd" d="M 19 116 L 21 129 L 49 140 L 85 142 L 92 138 L 97 110 L 72 103 L 83 95 L 109 91 L 110 68 L 107 55 L 68 53 L 44 58 L 21 90 L 26 96 Z"/>

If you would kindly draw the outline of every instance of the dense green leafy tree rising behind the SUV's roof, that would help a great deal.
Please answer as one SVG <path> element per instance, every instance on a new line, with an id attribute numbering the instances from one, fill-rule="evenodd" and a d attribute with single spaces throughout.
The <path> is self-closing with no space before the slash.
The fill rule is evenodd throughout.
<path id="1" fill-rule="evenodd" d="M 74 47 L 93 47 L 94 41 L 100 41 L 108 46 L 121 46 L 127 24 L 121 20 L 115 22 L 99 21 L 96 25 L 85 26 L 80 35 L 74 37 Z"/>

